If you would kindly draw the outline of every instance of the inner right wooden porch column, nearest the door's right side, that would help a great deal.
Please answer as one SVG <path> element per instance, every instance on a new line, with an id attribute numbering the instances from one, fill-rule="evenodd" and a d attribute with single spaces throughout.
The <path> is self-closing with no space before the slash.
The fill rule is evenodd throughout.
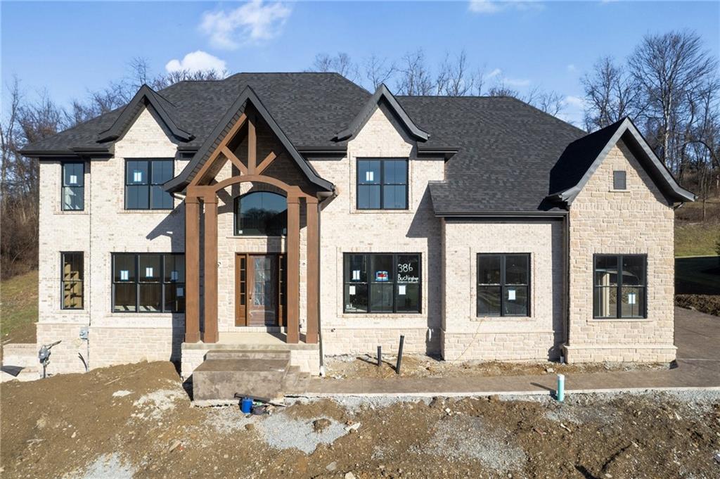
<path id="1" fill-rule="evenodd" d="M 287 196 L 287 342 L 300 342 L 300 197 Z"/>

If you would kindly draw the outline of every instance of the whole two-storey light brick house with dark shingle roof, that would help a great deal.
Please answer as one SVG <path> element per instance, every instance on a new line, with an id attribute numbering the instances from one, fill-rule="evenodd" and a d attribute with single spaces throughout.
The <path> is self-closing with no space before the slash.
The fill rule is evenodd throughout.
<path id="1" fill-rule="evenodd" d="M 451 361 L 675 358 L 673 207 L 694 197 L 630 120 L 240 73 L 143 86 L 24 154 L 50 372 L 79 353 L 187 377 L 273 341 L 318 372 L 401 334 Z"/>

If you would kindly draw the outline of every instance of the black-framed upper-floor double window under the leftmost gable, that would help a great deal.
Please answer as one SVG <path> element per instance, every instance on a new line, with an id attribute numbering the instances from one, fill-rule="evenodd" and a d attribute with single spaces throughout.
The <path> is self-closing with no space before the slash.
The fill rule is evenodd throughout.
<path id="1" fill-rule="evenodd" d="M 125 160 L 125 210 L 172 210 L 172 194 L 163 183 L 172 179 L 173 159 Z"/>

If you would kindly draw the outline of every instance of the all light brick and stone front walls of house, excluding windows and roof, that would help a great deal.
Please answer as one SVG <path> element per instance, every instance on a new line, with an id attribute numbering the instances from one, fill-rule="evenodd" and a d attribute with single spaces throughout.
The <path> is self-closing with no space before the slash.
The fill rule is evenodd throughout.
<path id="1" fill-rule="evenodd" d="M 143 360 L 181 360 L 183 374 L 189 375 L 207 352 L 182 344 L 182 314 L 112 312 L 112 253 L 184 251 L 181 195 L 177 195 L 172 212 L 124 208 L 125 160 L 176 156 L 176 144 L 168 139 L 171 136 L 161 125 L 152 112 L 143 110 L 127 133 L 114 143 L 112 158 L 96 158 L 86 163 L 85 210 L 81 212 L 60 210 L 60 162 L 41 163 L 37 341 L 38 344 L 63 341 L 53 349 L 51 373 L 83 371 L 79 353 L 91 368 Z M 236 147 L 241 161 L 245 161 L 246 148 L 245 143 Z M 564 354 L 572 362 L 674 359 L 672 206 L 624 145 L 613 148 L 570 208 L 569 305 L 564 293 L 567 271 L 564 220 L 436 218 L 428 182 L 444 179 L 445 162 L 441 158 L 420 158 L 416 148 L 392 113 L 381 106 L 348 142 L 346 156 L 311 160 L 319 176 L 336 185 L 336 197 L 325 200 L 320 213 L 320 329 L 325 354 L 372 354 L 379 345 L 384 351 L 396 352 L 403 334 L 405 352 L 440 353 L 452 361 L 555 358 L 566 341 L 564 318 L 569 308 L 570 336 Z M 258 127 L 258 160 L 269 151 L 281 154 L 265 174 L 288 184 L 305 181 L 269 131 Z M 358 158 L 410 159 L 408 210 L 356 209 Z M 184 166 L 184 161 L 176 161 L 175 174 Z M 628 172 L 629 191 L 611 191 L 613 169 Z M 235 174 L 228 163 L 216 179 Z M 265 330 L 235 326 L 236 254 L 285 251 L 285 240 L 281 237 L 235 236 L 235 197 L 251 190 L 274 191 L 274 188 L 241 184 L 218 195 L 221 336 Z M 300 227 L 300 326 L 305 331 L 304 205 Z M 61 251 L 84 251 L 83 310 L 61 309 Z M 420 254 L 421 312 L 344 313 L 343 254 L 351 252 Z M 492 252 L 531 255 L 531 314 L 527 318 L 477 317 L 476 258 L 478 253 Z M 647 319 L 593 319 L 595 253 L 648 255 Z M 202 297 L 200 311 L 202 316 Z M 84 327 L 89 327 L 87 341 L 79 337 Z M 297 349 L 291 358 L 292 364 L 318 372 L 318 349 Z"/>

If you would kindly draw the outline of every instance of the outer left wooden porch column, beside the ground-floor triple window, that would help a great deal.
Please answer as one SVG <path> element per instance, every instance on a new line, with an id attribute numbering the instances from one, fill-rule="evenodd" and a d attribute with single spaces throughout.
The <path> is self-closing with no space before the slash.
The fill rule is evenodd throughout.
<path id="1" fill-rule="evenodd" d="M 185 342 L 200 341 L 200 205 L 185 197 Z"/>

